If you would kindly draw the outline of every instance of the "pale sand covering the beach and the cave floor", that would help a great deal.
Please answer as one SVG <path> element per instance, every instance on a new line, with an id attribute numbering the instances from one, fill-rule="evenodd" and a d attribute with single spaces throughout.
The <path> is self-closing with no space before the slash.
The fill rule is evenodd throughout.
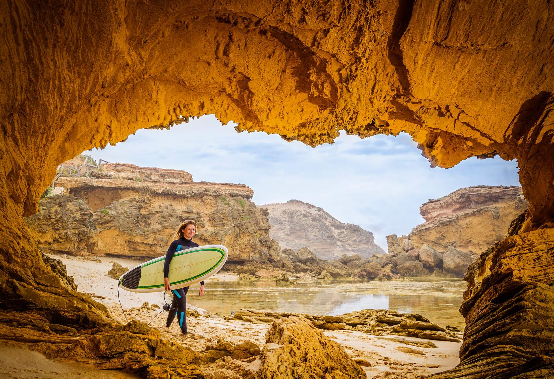
<path id="1" fill-rule="evenodd" d="M 94 294 L 96 301 L 102 302 L 110 310 L 112 316 L 125 323 L 124 314 L 121 306 L 117 302 L 117 280 L 105 276 L 111 269 L 110 261 L 118 262 L 122 266 L 132 268 L 141 261 L 121 257 L 99 257 L 101 262 L 86 260 L 81 257 L 63 256 L 52 254 L 52 257 L 61 259 L 67 266 L 68 275 L 73 275 L 75 283 L 79 286 L 79 291 Z M 206 281 L 206 288 L 209 289 L 209 282 L 213 280 L 236 280 L 237 276 L 232 274 L 216 274 L 213 278 Z M 197 294 L 198 285 L 193 286 L 189 294 Z M 190 295 L 189 295 L 190 296 Z M 221 338 L 231 342 L 238 343 L 243 341 L 252 341 L 258 346 L 265 344 L 265 332 L 269 329 L 269 324 L 252 324 L 244 321 L 228 321 L 222 317 L 208 314 L 208 312 L 189 306 L 189 310 L 196 310 L 203 316 L 187 317 L 188 337 L 181 335 L 176 322 L 165 329 L 167 312 L 153 309 L 150 306 L 141 307 L 144 302 L 162 306 L 164 304 L 161 292 L 152 294 L 132 294 L 127 291 L 120 291 L 121 304 L 125 309 L 127 319 L 138 319 L 149 323 L 161 331 L 161 338 L 181 343 L 191 347 L 194 351 L 200 352 L 208 345 L 214 345 Z M 171 302 L 169 296 L 166 300 Z M 437 348 L 422 348 L 410 346 L 404 343 L 388 341 L 381 336 L 367 335 L 357 331 L 324 331 L 325 335 L 332 340 L 340 343 L 345 351 L 352 358 L 363 359 L 370 366 L 363 369 L 368 378 L 387 379 L 410 379 L 420 378 L 430 373 L 439 372 L 453 368 L 459 363 L 458 352 L 461 343 L 432 341 Z M 397 337 L 397 336 L 395 336 Z M 403 340 L 425 341 L 419 338 L 397 337 Z M 21 377 L 21 378 L 72 378 L 77 376 L 76 372 L 81 372 L 82 377 L 95 378 L 134 378 L 135 376 L 117 371 L 93 370 L 78 365 L 60 364 L 47 360 L 37 352 L 25 351 L 23 349 L 1 348 L 3 361 L 9 362 L 21 361 L 19 357 L 25 356 L 25 360 L 37 362 L 35 365 L 27 365 L 24 369 L 17 368 L 14 364 L 4 364 L 0 371 L 0 376 Z M 401 350 L 403 351 L 401 351 Z M 26 352 L 26 353 L 25 353 Z M 26 355 L 25 355 L 26 354 Z M 48 361 L 48 362 L 47 362 Z M 228 360 L 228 362 L 217 362 L 210 366 L 203 366 L 202 370 L 207 379 L 216 379 L 223 377 L 241 377 L 240 373 L 252 372 L 257 370 L 260 365 L 259 359 L 254 362 L 243 362 Z M 80 367 L 79 369 L 76 367 Z M 23 370 L 23 371 L 22 371 Z M 101 371 L 99 374 L 98 371 Z M 104 376 L 101 376 L 104 375 Z M 119 376 L 117 376 L 119 375 Z M 3 376 L 2 376 L 3 377 Z"/>

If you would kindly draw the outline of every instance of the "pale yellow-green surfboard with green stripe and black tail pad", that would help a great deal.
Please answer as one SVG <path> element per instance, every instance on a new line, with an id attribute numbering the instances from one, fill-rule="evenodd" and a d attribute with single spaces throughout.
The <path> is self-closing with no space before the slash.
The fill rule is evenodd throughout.
<path id="1" fill-rule="evenodd" d="M 206 245 L 176 251 L 170 262 L 167 278 L 171 289 L 188 287 L 216 274 L 227 261 L 229 251 L 223 245 Z M 119 286 L 127 291 L 163 292 L 163 264 L 166 257 L 161 256 L 125 272 L 119 278 Z"/>

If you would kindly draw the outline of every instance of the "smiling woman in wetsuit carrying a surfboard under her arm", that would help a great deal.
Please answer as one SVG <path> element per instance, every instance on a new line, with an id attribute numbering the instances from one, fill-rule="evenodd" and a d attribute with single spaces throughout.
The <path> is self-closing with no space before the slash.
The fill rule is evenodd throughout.
<path id="1" fill-rule="evenodd" d="M 181 327 L 183 336 L 187 336 L 187 292 L 189 287 L 179 288 L 178 290 L 172 290 L 170 281 L 167 279 L 170 272 L 170 262 L 176 251 L 190 249 L 191 247 L 200 246 L 195 242 L 192 242 L 192 236 L 196 234 L 196 223 L 193 220 L 185 220 L 177 231 L 175 232 L 176 240 L 171 242 L 169 249 L 167 249 L 166 261 L 163 264 L 163 283 L 165 284 L 166 291 L 171 291 L 173 294 L 173 301 L 171 302 L 170 311 L 167 315 L 166 327 L 170 327 L 171 322 L 177 315 L 177 322 Z M 204 295 L 204 281 L 200 282 L 199 296 Z"/>

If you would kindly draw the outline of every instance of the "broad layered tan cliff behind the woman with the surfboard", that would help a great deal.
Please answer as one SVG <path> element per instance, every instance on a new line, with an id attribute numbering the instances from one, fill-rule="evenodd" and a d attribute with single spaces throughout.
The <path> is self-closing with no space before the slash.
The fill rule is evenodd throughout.
<path id="1" fill-rule="evenodd" d="M 41 199 L 39 212 L 25 220 L 40 247 L 70 254 L 160 256 L 177 226 L 193 219 L 199 244 L 227 246 L 230 261 L 267 261 L 267 214 L 250 201 L 253 191 L 247 186 L 179 183 L 192 176 L 178 170 L 115 166 L 118 171 L 114 165 L 102 166 L 100 176 L 109 179 L 57 180 L 65 194 Z M 114 171 L 136 179 L 119 179 Z"/>

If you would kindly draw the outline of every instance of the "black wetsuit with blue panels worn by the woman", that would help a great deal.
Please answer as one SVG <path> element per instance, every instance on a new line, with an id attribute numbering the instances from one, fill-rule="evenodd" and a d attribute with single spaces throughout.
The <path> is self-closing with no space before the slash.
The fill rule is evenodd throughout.
<path id="1" fill-rule="evenodd" d="M 196 242 L 192 240 L 187 240 L 185 237 L 182 237 L 178 240 L 171 242 L 170 247 L 167 249 L 166 261 L 163 264 L 163 277 L 168 277 L 170 272 L 170 262 L 173 259 L 176 251 L 187 250 L 191 247 L 198 247 Z M 204 285 L 204 281 L 200 282 L 200 285 Z M 181 327 L 181 332 L 187 334 L 187 292 L 188 287 L 179 288 L 178 290 L 171 290 L 173 294 L 173 301 L 171 302 L 171 307 L 169 314 L 167 315 L 166 326 L 170 326 L 177 315 L 177 322 L 179 327 Z"/>

